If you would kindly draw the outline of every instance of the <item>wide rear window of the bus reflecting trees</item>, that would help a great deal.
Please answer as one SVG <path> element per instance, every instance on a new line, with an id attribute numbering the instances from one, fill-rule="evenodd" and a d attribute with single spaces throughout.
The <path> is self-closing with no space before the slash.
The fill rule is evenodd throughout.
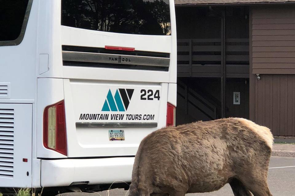
<path id="1" fill-rule="evenodd" d="M 171 35 L 169 0 L 62 0 L 61 25 L 116 33 Z"/>

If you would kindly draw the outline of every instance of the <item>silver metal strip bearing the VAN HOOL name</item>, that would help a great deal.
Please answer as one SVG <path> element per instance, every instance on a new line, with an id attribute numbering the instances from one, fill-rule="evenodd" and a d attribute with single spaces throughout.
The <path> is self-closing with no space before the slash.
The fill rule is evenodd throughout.
<path id="1" fill-rule="evenodd" d="M 110 58 L 117 60 L 110 60 Z M 128 61 L 123 61 L 128 59 Z M 130 61 L 129 61 L 130 59 Z M 169 67 L 170 58 L 162 57 L 147 57 L 147 56 L 134 56 L 134 55 L 114 55 L 104 53 L 91 53 L 91 52 L 76 52 L 76 51 L 62 51 L 63 61 L 75 62 L 96 62 L 96 63 L 112 63 L 120 65 L 145 65 L 145 66 L 160 66 Z"/>

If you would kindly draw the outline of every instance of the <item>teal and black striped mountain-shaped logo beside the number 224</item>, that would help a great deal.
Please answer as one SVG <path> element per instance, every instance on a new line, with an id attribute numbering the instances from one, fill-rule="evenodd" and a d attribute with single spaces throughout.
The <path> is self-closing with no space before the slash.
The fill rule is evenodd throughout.
<path id="1" fill-rule="evenodd" d="M 113 96 L 111 89 L 109 89 L 101 111 L 126 111 L 133 92 L 134 89 L 117 89 L 115 96 Z"/>

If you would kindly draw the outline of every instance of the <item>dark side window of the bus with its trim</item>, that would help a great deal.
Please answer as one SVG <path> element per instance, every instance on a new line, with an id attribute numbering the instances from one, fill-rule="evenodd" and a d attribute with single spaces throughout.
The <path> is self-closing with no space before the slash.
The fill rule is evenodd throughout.
<path id="1" fill-rule="evenodd" d="M 1 1 L 0 6 L 0 46 L 18 45 L 25 31 L 24 21 L 28 3 L 32 0 Z"/>

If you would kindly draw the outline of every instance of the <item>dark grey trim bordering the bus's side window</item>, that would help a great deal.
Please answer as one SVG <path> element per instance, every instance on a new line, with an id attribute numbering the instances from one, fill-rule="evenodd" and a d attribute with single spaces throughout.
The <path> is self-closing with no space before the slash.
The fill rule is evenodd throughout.
<path id="1" fill-rule="evenodd" d="M 25 36 L 25 32 L 26 32 L 26 28 L 27 28 L 27 24 L 28 24 L 28 20 L 30 16 L 31 8 L 32 8 L 32 3 L 33 3 L 33 0 L 28 1 L 24 20 L 22 22 L 21 32 L 18 35 L 18 38 L 16 38 L 15 40 L 0 41 L 0 46 L 17 46 L 20 43 L 22 43 L 22 40 L 24 39 L 24 36 Z"/>

